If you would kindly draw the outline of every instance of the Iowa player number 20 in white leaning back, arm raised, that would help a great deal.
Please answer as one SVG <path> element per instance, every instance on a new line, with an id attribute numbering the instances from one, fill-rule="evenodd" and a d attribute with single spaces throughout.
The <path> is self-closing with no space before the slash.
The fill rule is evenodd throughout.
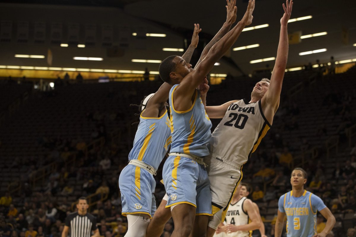
<path id="1" fill-rule="evenodd" d="M 209 221 L 208 237 L 213 236 L 224 221 L 232 195 L 242 179 L 242 166 L 257 149 L 261 139 L 273 123 L 279 106 L 284 70 L 288 58 L 287 23 L 293 0 L 283 4 L 281 31 L 271 80 L 256 83 L 251 99 L 230 101 L 220 106 L 207 106 L 209 118 L 222 118 L 211 134 L 211 157 L 205 159 L 211 190 L 214 216 Z"/>

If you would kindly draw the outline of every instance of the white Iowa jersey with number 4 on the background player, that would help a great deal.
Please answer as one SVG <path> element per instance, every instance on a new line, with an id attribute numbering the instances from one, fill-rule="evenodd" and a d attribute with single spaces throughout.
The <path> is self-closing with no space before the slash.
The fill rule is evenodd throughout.
<path id="1" fill-rule="evenodd" d="M 235 226 L 247 225 L 250 223 L 247 213 L 244 211 L 244 201 L 247 198 L 242 197 L 237 203 L 230 203 L 229 209 L 225 216 L 226 224 L 232 224 Z M 226 234 L 227 237 L 247 237 L 252 236 L 252 231 L 236 231 Z"/>

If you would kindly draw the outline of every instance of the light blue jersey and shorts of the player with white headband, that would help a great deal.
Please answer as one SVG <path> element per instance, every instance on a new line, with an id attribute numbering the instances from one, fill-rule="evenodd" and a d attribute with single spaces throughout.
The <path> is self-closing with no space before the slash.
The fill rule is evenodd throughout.
<path id="1" fill-rule="evenodd" d="M 146 118 L 141 114 L 129 160 L 142 161 L 157 170 L 171 144 L 170 125 L 167 111 L 159 118 Z M 151 217 L 155 213 L 156 181 L 152 173 L 129 164 L 120 173 L 119 187 L 122 215 L 147 214 Z"/>

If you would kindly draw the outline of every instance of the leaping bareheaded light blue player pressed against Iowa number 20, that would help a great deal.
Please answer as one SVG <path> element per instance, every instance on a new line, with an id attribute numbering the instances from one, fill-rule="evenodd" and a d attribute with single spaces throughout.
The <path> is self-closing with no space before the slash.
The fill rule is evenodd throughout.
<path id="1" fill-rule="evenodd" d="M 230 4 L 236 14 L 236 0 Z M 190 233 L 192 236 L 206 235 L 212 214 L 209 178 L 202 157 L 210 153 L 211 122 L 196 88 L 236 42 L 244 27 L 252 23 L 254 5 L 255 1 L 248 2 L 242 20 L 214 44 L 194 70 L 177 55 L 164 59 L 159 66 L 162 80 L 172 85 L 169 92 L 171 153 L 163 166 L 163 181 L 169 198 L 166 208 L 171 208 L 175 227 L 172 237 L 188 237 Z"/>

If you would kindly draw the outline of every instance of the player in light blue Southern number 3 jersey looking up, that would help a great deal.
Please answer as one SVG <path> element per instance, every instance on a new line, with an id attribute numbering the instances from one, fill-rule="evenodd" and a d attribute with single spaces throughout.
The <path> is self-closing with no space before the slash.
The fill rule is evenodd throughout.
<path id="1" fill-rule="evenodd" d="M 282 195 L 278 201 L 278 215 L 274 236 L 281 237 L 284 218 L 287 215 L 287 237 L 325 237 L 335 225 L 335 217 L 323 200 L 304 189 L 307 173 L 295 168 L 290 176 L 292 191 Z M 316 233 L 316 212 L 326 218 L 321 233 Z"/>

